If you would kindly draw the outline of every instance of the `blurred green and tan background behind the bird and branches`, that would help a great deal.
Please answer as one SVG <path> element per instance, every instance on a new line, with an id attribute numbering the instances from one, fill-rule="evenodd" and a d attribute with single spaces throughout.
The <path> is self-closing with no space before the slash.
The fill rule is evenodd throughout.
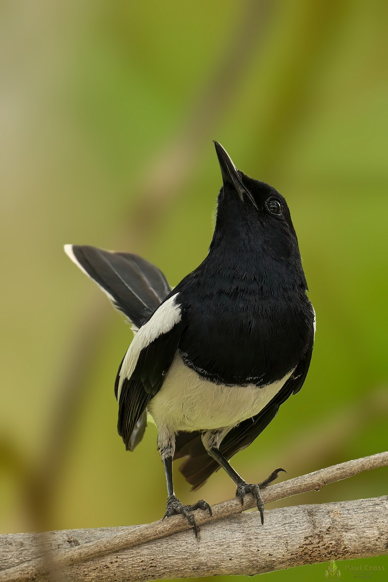
<path id="1" fill-rule="evenodd" d="M 234 466 L 255 482 L 386 448 L 387 17 L 385 0 L 1 3 L 1 533 L 162 516 L 155 428 L 132 454 L 116 433 L 130 329 L 62 246 L 141 254 L 175 285 L 211 240 L 212 139 L 286 196 L 317 314 L 302 391 Z M 233 494 L 219 472 L 200 495 Z"/>

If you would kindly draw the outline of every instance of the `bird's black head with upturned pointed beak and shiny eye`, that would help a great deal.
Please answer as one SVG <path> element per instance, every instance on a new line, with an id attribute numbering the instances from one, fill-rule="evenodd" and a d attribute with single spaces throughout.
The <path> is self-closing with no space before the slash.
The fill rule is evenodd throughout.
<path id="1" fill-rule="evenodd" d="M 214 142 L 223 186 L 211 250 L 236 249 L 275 260 L 300 262 L 297 236 L 286 200 L 275 188 L 237 170 L 218 141 Z M 237 248 L 238 247 L 238 248 Z M 232 251 L 233 252 L 233 251 Z"/>

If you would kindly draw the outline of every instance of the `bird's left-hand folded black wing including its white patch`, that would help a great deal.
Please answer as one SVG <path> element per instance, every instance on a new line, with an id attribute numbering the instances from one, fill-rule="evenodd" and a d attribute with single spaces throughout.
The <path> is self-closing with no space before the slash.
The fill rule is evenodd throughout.
<path id="1" fill-rule="evenodd" d="M 137 445 L 140 434 L 143 436 L 145 409 L 163 384 L 183 331 L 178 295 L 163 301 L 141 326 L 119 368 L 115 385 L 118 431 L 129 450 Z"/>

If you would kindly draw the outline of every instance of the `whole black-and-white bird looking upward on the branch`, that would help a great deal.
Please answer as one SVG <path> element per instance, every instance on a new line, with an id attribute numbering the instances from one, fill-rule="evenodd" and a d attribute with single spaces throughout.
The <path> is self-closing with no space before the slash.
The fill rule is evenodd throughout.
<path id="1" fill-rule="evenodd" d="M 238 170 L 214 141 L 222 175 L 215 228 L 201 264 L 172 288 L 162 271 L 136 254 L 66 244 L 70 259 L 129 320 L 134 337 L 115 381 L 118 432 L 133 451 L 147 418 L 158 431 L 166 476 L 163 516 L 182 514 L 197 537 L 194 511 L 173 487 L 172 462 L 198 489 L 222 467 L 236 496 L 254 495 L 275 469 L 248 483 L 230 458 L 250 445 L 281 404 L 300 391 L 315 336 L 297 235 L 286 200 Z"/>

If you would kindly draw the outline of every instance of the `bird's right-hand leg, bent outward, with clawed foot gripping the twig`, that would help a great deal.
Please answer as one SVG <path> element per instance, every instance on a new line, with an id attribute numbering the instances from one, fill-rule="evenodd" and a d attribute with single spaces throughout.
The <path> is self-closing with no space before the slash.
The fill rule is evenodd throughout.
<path id="1" fill-rule="evenodd" d="M 240 498 L 241 505 L 244 504 L 244 496 L 247 493 L 252 493 L 256 499 L 257 509 L 260 513 L 261 523 L 264 523 L 264 501 L 261 496 L 260 489 L 264 489 L 270 482 L 274 481 L 277 477 L 277 474 L 280 471 L 284 471 L 284 469 L 275 469 L 269 477 L 267 477 L 261 483 L 247 483 L 244 481 L 242 477 L 240 477 L 239 473 L 233 469 L 233 467 L 229 464 L 225 456 L 219 451 L 219 445 L 222 441 L 223 437 L 225 437 L 225 430 L 224 431 L 208 431 L 202 435 L 202 442 L 204 443 L 205 449 L 207 453 L 213 457 L 213 459 L 223 468 L 225 469 L 226 473 L 232 479 L 232 481 L 237 485 L 236 489 L 236 497 Z"/>

